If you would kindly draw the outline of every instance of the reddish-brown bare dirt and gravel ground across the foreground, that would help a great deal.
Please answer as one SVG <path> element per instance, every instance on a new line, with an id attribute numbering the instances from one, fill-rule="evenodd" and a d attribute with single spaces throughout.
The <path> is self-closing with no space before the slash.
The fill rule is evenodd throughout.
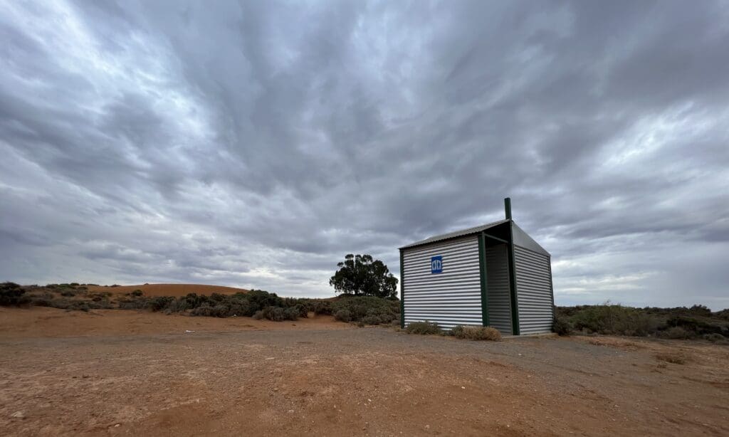
<path id="1" fill-rule="evenodd" d="M 610 337 L 469 342 L 330 319 L 262 326 L 44 310 L 79 326 L 95 318 L 152 324 L 49 338 L 44 326 L 61 331 L 58 320 L 36 318 L 35 331 L 17 334 L 3 322 L 0 435 L 729 434 L 725 346 Z M 0 319 L 23 311 L 35 310 L 4 310 Z M 216 324 L 184 332 L 198 320 Z M 687 360 L 656 358 L 671 353 Z"/>

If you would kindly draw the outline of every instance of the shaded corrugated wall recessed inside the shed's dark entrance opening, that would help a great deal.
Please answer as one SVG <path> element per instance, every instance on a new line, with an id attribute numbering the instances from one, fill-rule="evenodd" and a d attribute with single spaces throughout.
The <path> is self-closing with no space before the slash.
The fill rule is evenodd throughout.
<path id="1" fill-rule="evenodd" d="M 486 247 L 486 283 L 488 289 L 488 323 L 510 335 L 511 293 L 508 252 L 505 244 Z"/>

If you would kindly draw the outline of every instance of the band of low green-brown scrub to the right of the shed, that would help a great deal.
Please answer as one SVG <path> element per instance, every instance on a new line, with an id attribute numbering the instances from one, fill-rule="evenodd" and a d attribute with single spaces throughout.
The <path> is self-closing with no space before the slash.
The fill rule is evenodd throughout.
<path id="1" fill-rule="evenodd" d="M 729 310 L 712 312 L 703 305 L 634 308 L 607 302 L 555 307 L 555 314 L 553 330 L 560 335 L 653 336 L 711 342 L 725 342 L 729 337 Z"/>

